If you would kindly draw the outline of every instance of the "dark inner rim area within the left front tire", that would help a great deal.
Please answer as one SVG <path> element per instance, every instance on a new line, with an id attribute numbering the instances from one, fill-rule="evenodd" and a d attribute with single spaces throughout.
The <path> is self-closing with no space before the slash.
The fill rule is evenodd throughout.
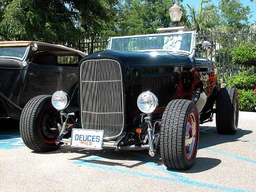
<path id="1" fill-rule="evenodd" d="M 55 143 L 58 138 L 58 129 L 56 129 L 56 131 L 51 130 L 51 128 L 57 127 L 57 113 L 58 111 L 56 111 L 52 106 L 48 106 L 40 115 L 38 132 L 45 143 Z"/>

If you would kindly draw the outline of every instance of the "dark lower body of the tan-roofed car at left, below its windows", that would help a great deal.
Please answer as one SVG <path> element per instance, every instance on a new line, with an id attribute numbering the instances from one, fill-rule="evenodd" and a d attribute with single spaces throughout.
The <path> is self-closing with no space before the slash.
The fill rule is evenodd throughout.
<path id="1" fill-rule="evenodd" d="M 77 65 L 26 63 L 27 66 L 22 67 L 22 61 L 0 58 L 0 118 L 19 119 L 22 108 L 37 95 L 52 95 L 56 90 L 70 95 L 74 92 Z M 77 100 L 72 104 L 76 111 Z"/>

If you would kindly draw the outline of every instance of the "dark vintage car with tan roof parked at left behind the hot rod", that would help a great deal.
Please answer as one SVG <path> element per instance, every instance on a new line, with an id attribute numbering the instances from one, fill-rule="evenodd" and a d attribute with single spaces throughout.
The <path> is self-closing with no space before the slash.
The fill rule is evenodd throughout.
<path id="1" fill-rule="evenodd" d="M 20 118 L 37 95 L 70 92 L 84 52 L 42 42 L 0 42 L 0 119 Z"/>

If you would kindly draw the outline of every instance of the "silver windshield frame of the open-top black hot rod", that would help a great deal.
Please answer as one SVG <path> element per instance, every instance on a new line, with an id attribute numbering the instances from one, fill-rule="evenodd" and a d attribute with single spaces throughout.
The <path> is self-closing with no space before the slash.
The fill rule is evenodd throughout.
<path id="1" fill-rule="evenodd" d="M 131 36 L 114 36 L 111 37 L 109 40 L 109 44 L 108 44 L 108 50 L 111 50 L 112 48 L 112 42 L 113 39 L 121 39 L 121 38 L 136 38 L 136 37 L 141 37 L 141 36 L 161 36 L 161 35 L 179 35 L 179 34 L 188 34 L 191 33 L 191 45 L 190 45 L 190 49 L 189 51 L 184 51 L 184 50 L 175 50 L 175 51 L 171 51 L 169 49 L 147 49 L 147 50 L 134 50 L 134 52 L 149 52 L 149 51 L 155 51 L 155 52 L 180 52 L 180 53 L 184 53 L 184 54 L 193 54 L 193 50 L 195 49 L 195 42 L 196 42 L 196 33 L 195 31 L 180 31 L 180 32 L 172 32 L 172 33 L 156 33 L 156 34 L 147 34 L 147 35 L 131 35 Z"/>

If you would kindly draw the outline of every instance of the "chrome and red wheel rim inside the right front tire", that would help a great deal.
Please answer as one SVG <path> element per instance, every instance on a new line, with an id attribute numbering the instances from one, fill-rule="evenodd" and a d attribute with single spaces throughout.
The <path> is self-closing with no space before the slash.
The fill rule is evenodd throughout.
<path id="1" fill-rule="evenodd" d="M 195 155 L 198 140 L 198 122 L 196 114 L 190 113 L 186 122 L 185 153 L 190 160 Z"/>

